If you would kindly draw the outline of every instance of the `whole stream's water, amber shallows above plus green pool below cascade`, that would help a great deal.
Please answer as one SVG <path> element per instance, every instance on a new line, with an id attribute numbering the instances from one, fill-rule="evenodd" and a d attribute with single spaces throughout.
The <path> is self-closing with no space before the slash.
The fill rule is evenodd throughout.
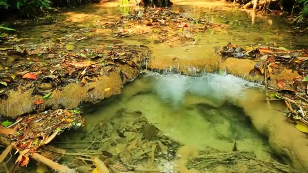
<path id="1" fill-rule="evenodd" d="M 262 88 L 232 75 L 218 75 L 206 73 L 206 71 L 215 71 L 218 68 L 219 57 L 215 54 L 214 48 L 225 46 L 228 42 L 245 46 L 276 41 L 288 48 L 303 48 L 308 46 L 306 45 L 308 35 L 295 32 L 282 16 L 254 14 L 235 7 L 226 7 L 221 2 L 181 0 L 174 1 L 175 5 L 172 8 L 184 9 L 186 16 L 204 18 L 210 22 L 222 24 L 225 28 L 207 29 L 199 35 L 200 41 L 196 45 L 154 44 L 151 37 L 142 36 L 120 40 L 114 37 L 112 30 L 108 29 L 83 32 L 89 28 L 101 29 L 100 22 L 112 21 L 133 9 L 119 8 L 118 3 L 107 2 L 78 7 L 57 14 L 57 24 L 31 26 L 18 30 L 22 37 L 31 37 L 29 41 L 33 44 L 48 44 L 53 38 L 78 31 L 82 36 L 90 36 L 91 39 L 70 42 L 76 46 L 76 49 L 96 48 L 113 42 L 147 45 L 155 56 L 152 62 L 153 68 L 164 68 L 165 65 L 171 64 L 174 57 L 177 57 L 180 59 L 180 65 L 187 65 L 191 71 L 204 72 L 204 74 L 201 77 L 188 77 L 177 74 L 147 73 L 138 77 L 125 86 L 120 96 L 113 96 L 96 106 L 87 108 L 86 126 L 78 131 L 64 134 L 61 139 L 56 139 L 54 144 L 74 152 L 100 149 L 107 155 L 108 153 L 117 154 L 122 161 L 129 161 L 133 156 L 127 151 L 128 144 L 133 145 L 131 142 L 137 138 L 139 142 L 141 139 L 155 139 L 158 137 L 156 134 L 158 131 L 159 139 L 168 138 L 176 142 L 174 149 L 170 149 L 172 150 L 170 153 L 173 153 L 172 159 L 176 157 L 174 153 L 180 146 L 191 146 L 194 150 L 211 148 L 215 151 L 231 152 L 235 142 L 239 151 L 252 152 L 260 160 L 275 159 L 267 139 L 259 134 L 243 109 L 236 105 L 237 101 L 243 98 L 254 100 L 254 97 L 263 95 L 260 91 Z M 205 66 L 205 69 L 199 69 Z M 165 74 L 170 71 L 165 70 Z M 247 93 L 250 89 L 256 92 Z M 257 106 L 262 107 L 264 111 L 261 113 L 267 110 L 262 101 L 248 101 L 245 104 L 250 105 L 250 112 L 252 104 L 256 105 L 256 109 L 258 109 Z M 142 131 L 139 131 L 141 126 L 133 128 L 136 131 L 135 136 L 128 139 L 133 130 L 128 133 L 124 129 L 132 128 L 134 124 L 129 122 L 141 117 L 146 119 Z M 104 125 L 108 127 L 107 136 L 102 135 L 103 132 L 98 130 Z M 118 132 L 120 128 L 123 132 Z M 144 129 L 148 129 L 147 132 L 144 132 Z M 99 141 L 94 139 L 95 136 L 100 136 L 101 140 L 108 137 L 115 142 L 108 147 L 101 146 Z M 87 141 L 91 139 L 95 143 Z M 158 144 L 160 143 L 157 142 Z M 128 154 L 125 155 L 125 152 Z M 143 156 L 142 153 L 141 156 Z M 166 159 L 166 162 L 161 159 L 156 162 L 159 162 L 158 167 L 161 171 L 172 172 L 175 171 L 176 164 L 172 159 Z"/>

